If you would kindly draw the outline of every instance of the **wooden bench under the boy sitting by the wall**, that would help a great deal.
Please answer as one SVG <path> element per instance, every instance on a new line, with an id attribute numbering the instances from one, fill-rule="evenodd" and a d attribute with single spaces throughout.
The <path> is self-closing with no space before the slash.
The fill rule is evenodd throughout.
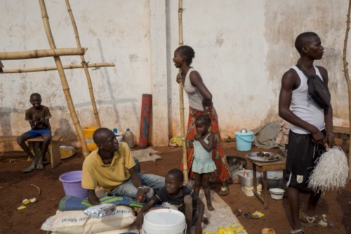
<path id="1" fill-rule="evenodd" d="M 4 141 L 17 141 L 18 136 L 0 136 L 0 142 Z M 56 167 L 61 162 L 60 155 L 60 140 L 62 136 L 55 135 L 51 137 L 51 142 L 49 145 L 49 154 L 51 158 L 51 168 Z M 41 136 L 35 138 L 29 138 L 27 142 L 42 142 L 43 138 Z"/>

